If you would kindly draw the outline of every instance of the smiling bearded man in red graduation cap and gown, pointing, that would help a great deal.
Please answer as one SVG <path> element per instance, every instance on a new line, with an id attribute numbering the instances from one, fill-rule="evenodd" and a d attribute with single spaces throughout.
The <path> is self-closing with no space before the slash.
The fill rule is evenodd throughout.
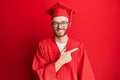
<path id="1" fill-rule="evenodd" d="M 47 10 L 55 36 L 39 42 L 32 65 L 39 80 L 95 80 L 83 44 L 68 36 L 74 13 L 61 2 Z"/>

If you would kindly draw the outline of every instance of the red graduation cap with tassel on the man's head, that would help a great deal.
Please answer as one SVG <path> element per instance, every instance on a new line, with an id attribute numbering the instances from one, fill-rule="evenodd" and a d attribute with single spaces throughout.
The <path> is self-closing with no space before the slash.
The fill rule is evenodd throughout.
<path id="1" fill-rule="evenodd" d="M 50 15 L 52 18 L 57 16 L 65 16 L 71 21 L 71 16 L 75 13 L 75 11 L 62 2 L 58 1 L 53 6 L 51 6 L 46 13 Z"/>

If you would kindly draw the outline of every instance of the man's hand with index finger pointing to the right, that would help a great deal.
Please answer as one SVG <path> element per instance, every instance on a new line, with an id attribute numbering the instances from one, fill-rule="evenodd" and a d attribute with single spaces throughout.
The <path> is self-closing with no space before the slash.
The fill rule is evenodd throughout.
<path id="1" fill-rule="evenodd" d="M 71 54 L 78 50 L 78 48 L 71 49 L 69 51 L 66 51 L 66 48 L 61 51 L 60 58 L 58 59 L 58 63 L 60 64 L 66 64 L 72 60 Z M 66 52 L 65 52 L 66 51 Z"/>

